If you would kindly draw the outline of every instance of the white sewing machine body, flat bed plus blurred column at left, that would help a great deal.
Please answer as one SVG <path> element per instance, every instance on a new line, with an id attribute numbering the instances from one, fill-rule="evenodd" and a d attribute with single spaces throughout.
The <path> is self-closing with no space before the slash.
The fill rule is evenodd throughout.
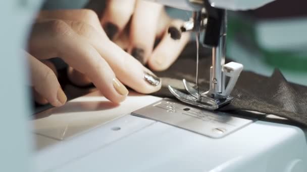
<path id="1" fill-rule="evenodd" d="M 0 1 L 6 22 L 0 28 L 5 59 L 0 63 L 0 171 L 307 171 L 306 136 L 298 127 L 253 121 L 212 138 L 129 115 L 161 98 L 130 95 L 114 107 L 97 93 L 30 122 L 36 143 L 31 162 L 26 65 L 17 50 L 25 47 L 41 2 Z"/>

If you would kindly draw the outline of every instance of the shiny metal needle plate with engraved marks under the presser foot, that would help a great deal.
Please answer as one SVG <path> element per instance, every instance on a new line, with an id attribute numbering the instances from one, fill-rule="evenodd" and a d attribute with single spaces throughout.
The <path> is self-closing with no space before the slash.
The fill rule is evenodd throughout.
<path id="1" fill-rule="evenodd" d="M 254 119 L 234 117 L 223 112 L 190 107 L 171 99 L 160 100 L 134 111 L 132 115 L 160 121 L 213 138 L 223 137 L 254 121 Z"/>

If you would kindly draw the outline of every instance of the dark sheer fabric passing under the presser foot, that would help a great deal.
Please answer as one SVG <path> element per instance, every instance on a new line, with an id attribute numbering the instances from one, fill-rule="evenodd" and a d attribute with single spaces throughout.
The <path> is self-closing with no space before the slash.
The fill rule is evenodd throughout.
<path id="1" fill-rule="evenodd" d="M 166 71 L 158 72 L 163 88 L 155 96 L 173 98 L 167 85 L 183 89 L 182 79 L 195 83 L 195 43 L 189 44 L 179 59 Z M 211 50 L 200 48 L 199 85 L 209 89 Z M 257 111 L 287 118 L 307 126 L 307 87 L 287 82 L 279 70 L 271 77 L 243 71 L 232 94 L 234 100 L 219 111 Z"/>

